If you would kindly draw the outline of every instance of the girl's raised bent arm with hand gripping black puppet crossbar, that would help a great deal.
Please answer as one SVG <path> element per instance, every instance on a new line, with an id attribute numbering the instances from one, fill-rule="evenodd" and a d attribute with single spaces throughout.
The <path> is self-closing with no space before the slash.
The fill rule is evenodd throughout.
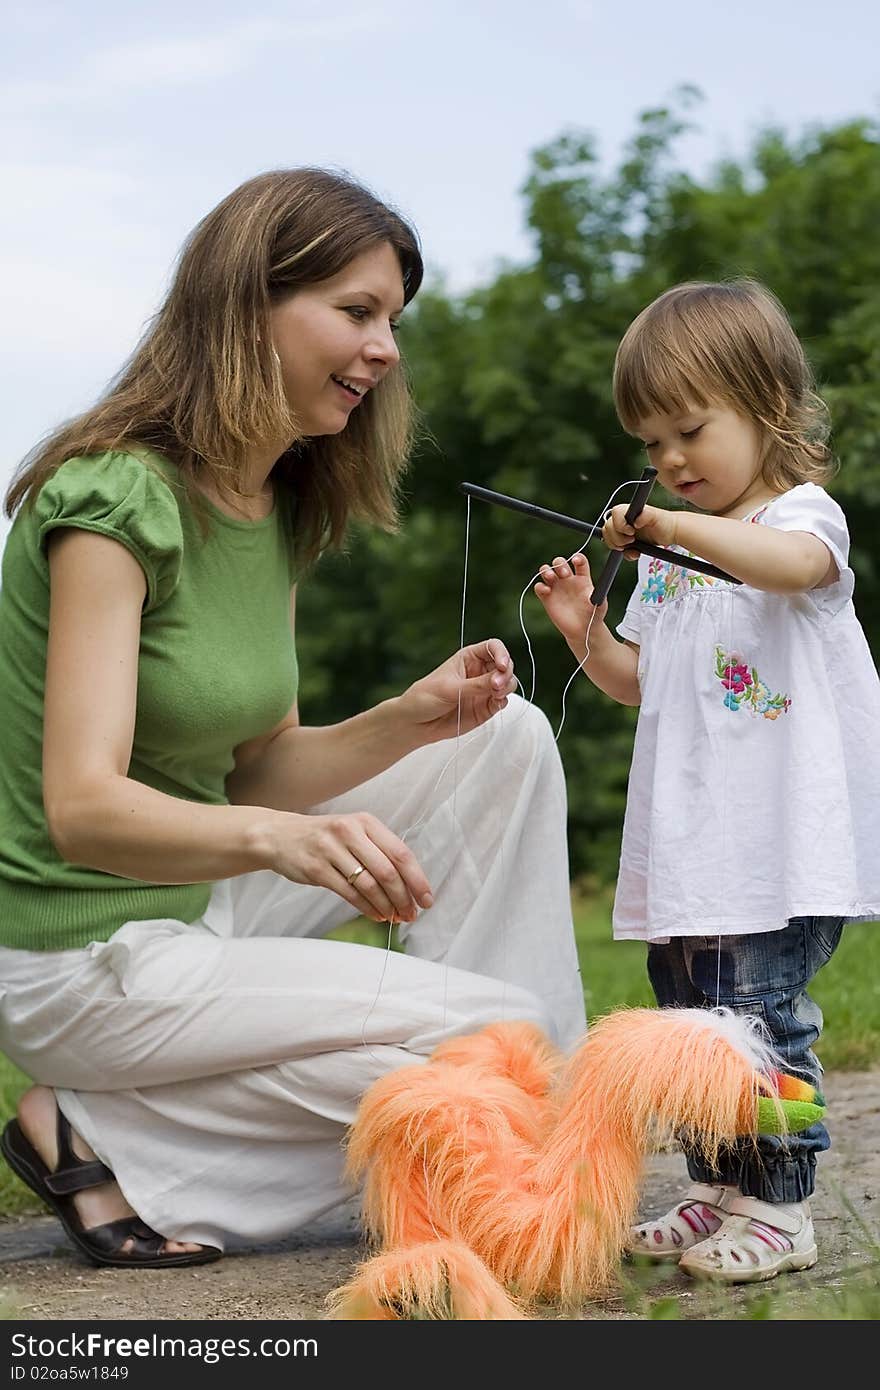
<path id="1" fill-rule="evenodd" d="M 779 531 L 770 525 L 653 506 L 644 507 L 633 527 L 626 521 L 626 507 L 614 507 L 602 530 L 605 543 L 613 550 L 624 550 L 634 535 L 653 545 L 680 545 L 751 588 L 769 594 L 804 594 L 837 578 L 837 564 L 827 545 L 806 531 Z"/>

